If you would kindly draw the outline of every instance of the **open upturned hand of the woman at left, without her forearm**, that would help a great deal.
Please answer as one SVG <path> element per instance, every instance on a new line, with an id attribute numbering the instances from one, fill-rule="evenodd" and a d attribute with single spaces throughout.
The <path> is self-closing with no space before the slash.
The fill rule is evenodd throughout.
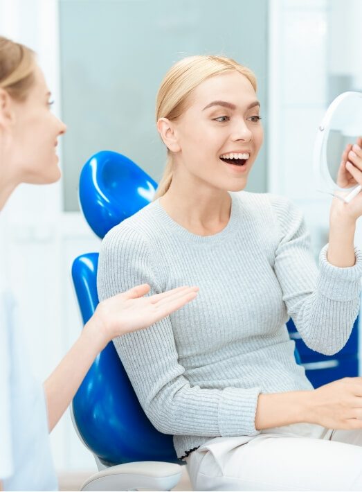
<path id="1" fill-rule="evenodd" d="M 105 346 L 113 338 L 146 328 L 197 297 L 198 287 L 178 287 L 144 297 L 150 285 L 144 283 L 98 304 L 84 328 L 91 328 Z"/>

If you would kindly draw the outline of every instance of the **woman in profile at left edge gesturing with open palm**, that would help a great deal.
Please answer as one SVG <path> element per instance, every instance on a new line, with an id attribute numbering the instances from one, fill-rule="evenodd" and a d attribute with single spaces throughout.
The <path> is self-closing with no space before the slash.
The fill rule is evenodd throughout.
<path id="1" fill-rule="evenodd" d="M 52 114 L 50 99 L 33 51 L 0 37 L 0 209 L 18 184 L 60 178 L 55 148 L 66 126 Z M 112 338 L 149 326 L 197 295 L 197 288 L 182 287 L 143 297 L 149 290 L 143 283 L 101 302 L 42 388 L 28 368 L 0 268 L 0 489 L 56 489 L 48 430 L 68 407 L 96 355 Z"/>

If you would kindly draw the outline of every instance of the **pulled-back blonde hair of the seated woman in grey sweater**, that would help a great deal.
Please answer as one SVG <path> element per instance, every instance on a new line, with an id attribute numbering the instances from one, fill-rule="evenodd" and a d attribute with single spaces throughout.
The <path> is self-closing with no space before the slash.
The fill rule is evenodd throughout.
<path id="1" fill-rule="evenodd" d="M 159 121 L 159 118 L 168 118 L 170 121 L 177 120 L 188 109 L 190 95 L 201 82 L 233 71 L 242 73 L 251 82 L 256 92 L 257 82 L 254 73 L 231 58 L 216 55 L 196 55 L 183 58 L 183 60 L 175 63 L 166 73 L 157 93 L 156 121 Z M 173 173 L 174 161 L 172 152 L 168 150 L 165 170 L 154 200 L 168 191 Z"/>

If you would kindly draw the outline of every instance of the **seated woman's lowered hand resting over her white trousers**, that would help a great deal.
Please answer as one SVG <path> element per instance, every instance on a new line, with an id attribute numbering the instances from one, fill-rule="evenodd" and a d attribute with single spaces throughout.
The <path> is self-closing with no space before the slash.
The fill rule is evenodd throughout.
<path id="1" fill-rule="evenodd" d="M 343 378 L 311 392 L 311 423 L 329 429 L 362 429 L 362 378 Z"/>

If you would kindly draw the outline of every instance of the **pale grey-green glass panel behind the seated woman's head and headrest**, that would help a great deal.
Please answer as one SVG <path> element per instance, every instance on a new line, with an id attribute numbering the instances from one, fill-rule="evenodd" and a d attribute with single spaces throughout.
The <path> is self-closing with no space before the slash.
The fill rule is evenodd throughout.
<path id="1" fill-rule="evenodd" d="M 115 150 L 159 181 L 159 84 L 186 55 L 224 54 L 253 69 L 266 126 L 267 0 L 60 0 L 64 209 L 78 210 L 80 170 Z M 248 191 L 266 191 L 266 148 Z"/>

